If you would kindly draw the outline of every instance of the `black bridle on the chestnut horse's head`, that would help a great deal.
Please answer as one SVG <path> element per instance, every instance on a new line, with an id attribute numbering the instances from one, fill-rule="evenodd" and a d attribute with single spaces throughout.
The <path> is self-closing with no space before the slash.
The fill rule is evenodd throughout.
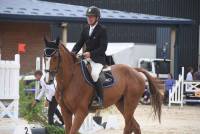
<path id="1" fill-rule="evenodd" d="M 50 51 L 50 52 L 48 52 Z M 58 48 L 45 48 L 44 49 L 44 57 L 53 57 L 55 54 L 58 54 L 58 62 L 57 62 L 57 67 L 55 70 L 47 70 L 45 69 L 45 72 L 48 72 L 53 78 L 55 75 L 58 73 L 59 67 L 60 67 L 60 61 L 61 61 L 61 56 Z"/>

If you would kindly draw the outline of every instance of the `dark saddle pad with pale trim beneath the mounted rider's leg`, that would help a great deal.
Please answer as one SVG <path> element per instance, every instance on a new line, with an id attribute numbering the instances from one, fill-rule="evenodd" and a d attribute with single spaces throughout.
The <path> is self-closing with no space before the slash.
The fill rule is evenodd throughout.
<path id="1" fill-rule="evenodd" d="M 90 86 L 95 88 L 94 81 L 93 81 L 90 71 L 89 71 L 89 65 L 87 63 L 85 63 L 83 60 L 80 60 L 80 66 L 81 66 L 81 72 L 83 74 L 85 81 Z M 112 87 L 115 84 L 115 79 L 112 75 L 111 67 L 104 66 L 99 75 L 99 79 L 102 83 L 102 88 Z"/>

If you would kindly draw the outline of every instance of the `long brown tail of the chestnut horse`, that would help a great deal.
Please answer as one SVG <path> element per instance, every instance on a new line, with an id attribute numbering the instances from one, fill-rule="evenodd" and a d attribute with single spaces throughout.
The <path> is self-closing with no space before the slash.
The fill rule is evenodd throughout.
<path id="1" fill-rule="evenodd" d="M 153 78 L 145 69 L 134 68 L 136 71 L 143 73 L 148 80 L 150 93 L 151 93 L 151 105 L 154 111 L 154 117 L 158 116 L 159 122 L 161 122 L 162 113 L 162 99 L 163 95 L 160 92 L 161 85 L 158 79 Z"/>

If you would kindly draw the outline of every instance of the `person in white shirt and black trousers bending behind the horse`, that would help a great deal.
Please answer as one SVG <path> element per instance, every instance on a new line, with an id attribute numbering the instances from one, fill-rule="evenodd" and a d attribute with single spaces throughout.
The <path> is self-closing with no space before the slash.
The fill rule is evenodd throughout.
<path id="1" fill-rule="evenodd" d="M 42 75 L 43 75 L 43 73 L 40 70 L 37 70 L 34 73 L 36 80 L 39 81 L 40 86 L 42 88 L 41 88 L 39 94 L 36 96 L 35 101 L 32 103 L 32 107 L 34 107 L 37 103 L 39 103 L 42 96 L 45 94 L 46 95 L 46 105 L 49 104 L 49 107 L 48 107 L 48 123 L 50 125 L 54 124 L 53 116 L 54 116 L 54 113 L 55 113 L 57 115 L 57 117 L 59 118 L 60 122 L 62 123 L 62 124 L 59 124 L 59 125 L 64 125 L 62 115 L 57 108 L 58 103 L 57 103 L 56 98 L 55 98 L 55 86 L 54 86 L 53 83 L 52 84 L 46 84 L 45 81 L 44 81 L 44 77 Z"/>

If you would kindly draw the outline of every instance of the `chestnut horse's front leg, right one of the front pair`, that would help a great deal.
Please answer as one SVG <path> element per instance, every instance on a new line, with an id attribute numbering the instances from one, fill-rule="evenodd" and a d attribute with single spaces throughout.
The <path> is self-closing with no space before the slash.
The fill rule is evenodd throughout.
<path id="1" fill-rule="evenodd" d="M 88 110 L 78 110 L 74 115 L 73 124 L 69 134 L 77 134 L 85 117 L 88 115 Z"/>

